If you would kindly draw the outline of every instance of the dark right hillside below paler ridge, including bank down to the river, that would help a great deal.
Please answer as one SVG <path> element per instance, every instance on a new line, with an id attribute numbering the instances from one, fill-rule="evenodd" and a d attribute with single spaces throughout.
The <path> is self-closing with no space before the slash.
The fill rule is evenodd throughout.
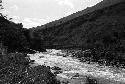
<path id="1" fill-rule="evenodd" d="M 45 25 L 46 26 L 46 25 Z M 91 49 L 93 59 L 124 62 L 125 2 L 83 14 L 60 25 L 32 29 L 46 48 Z"/>

